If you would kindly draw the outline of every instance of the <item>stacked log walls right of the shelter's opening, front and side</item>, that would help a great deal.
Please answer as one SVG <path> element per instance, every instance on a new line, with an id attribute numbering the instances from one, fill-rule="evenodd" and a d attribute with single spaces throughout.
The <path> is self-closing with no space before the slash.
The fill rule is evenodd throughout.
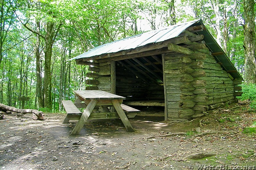
<path id="1" fill-rule="evenodd" d="M 216 62 L 205 45 L 168 44 L 168 49 L 177 52 L 162 55 L 168 120 L 203 116 L 213 105 L 234 101 L 234 96 L 240 94 L 235 94 L 234 82 L 241 84 L 241 81 L 235 81 L 222 70 L 221 63 Z"/>

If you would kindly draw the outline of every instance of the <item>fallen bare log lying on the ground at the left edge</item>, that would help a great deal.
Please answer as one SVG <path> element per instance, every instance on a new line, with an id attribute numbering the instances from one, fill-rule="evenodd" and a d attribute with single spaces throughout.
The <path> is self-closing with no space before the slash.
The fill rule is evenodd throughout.
<path id="1" fill-rule="evenodd" d="M 7 105 L 4 105 L 2 103 L 0 103 L 0 108 L 4 111 L 12 111 L 12 112 L 16 112 L 16 113 L 22 113 L 22 114 L 25 114 L 25 113 L 33 113 L 36 115 L 37 119 L 35 118 L 35 116 L 33 116 L 33 119 L 34 120 L 43 120 L 44 119 L 44 114 L 42 111 L 38 111 L 36 109 L 18 109 L 18 108 L 15 108 L 15 107 L 12 107 L 12 106 L 7 106 Z"/>

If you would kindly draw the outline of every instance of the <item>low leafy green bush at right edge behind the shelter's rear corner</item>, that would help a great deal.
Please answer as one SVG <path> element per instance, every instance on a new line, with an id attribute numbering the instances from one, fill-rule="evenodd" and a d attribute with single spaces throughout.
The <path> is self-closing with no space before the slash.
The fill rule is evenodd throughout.
<path id="1" fill-rule="evenodd" d="M 255 84 L 243 84 L 242 96 L 237 97 L 239 100 L 256 100 L 256 85 Z"/>

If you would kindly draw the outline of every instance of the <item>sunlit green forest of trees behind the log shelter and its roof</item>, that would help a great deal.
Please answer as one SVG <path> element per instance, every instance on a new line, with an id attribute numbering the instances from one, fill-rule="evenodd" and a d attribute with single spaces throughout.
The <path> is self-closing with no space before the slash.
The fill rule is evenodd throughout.
<path id="1" fill-rule="evenodd" d="M 91 48 L 201 18 L 256 100 L 253 0 L 0 0 L 0 103 L 59 112 L 84 90 L 88 66 L 68 59 Z M 256 102 L 254 103 L 256 107 Z M 254 106 L 254 104 L 252 106 Z"/>

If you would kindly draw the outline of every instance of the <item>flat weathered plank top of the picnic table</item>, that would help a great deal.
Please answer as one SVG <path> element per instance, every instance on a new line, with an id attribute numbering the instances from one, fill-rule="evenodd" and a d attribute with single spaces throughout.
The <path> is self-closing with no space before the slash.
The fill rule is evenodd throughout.
<path id="1" fill-rule="evenodd" d="M 76 90 L 76 95 L 82 97 L 84 100 L 124 100 L 125 97 L 118 96 L 109 92 L 101 90 Z"/>

